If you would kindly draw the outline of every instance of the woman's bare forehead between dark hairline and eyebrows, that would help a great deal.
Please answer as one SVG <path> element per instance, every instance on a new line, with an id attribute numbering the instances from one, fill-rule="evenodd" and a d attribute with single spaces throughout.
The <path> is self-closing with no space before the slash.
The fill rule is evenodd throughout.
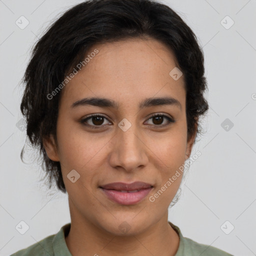
<path id="1" fill-rule="evenodd" d="M 95 50 L 98 53 L 90 55 Z M 183 77 L 174 80 L 169 74 L 176 67 L 173 52 L 155 39 L 98 43 L 85 57 L 89 57 L 87 64 L 61 92 L 65 101 L 88 96 L 117 101 L 119 97 L 126 102 L 156 94 L 184 96 Z"/>

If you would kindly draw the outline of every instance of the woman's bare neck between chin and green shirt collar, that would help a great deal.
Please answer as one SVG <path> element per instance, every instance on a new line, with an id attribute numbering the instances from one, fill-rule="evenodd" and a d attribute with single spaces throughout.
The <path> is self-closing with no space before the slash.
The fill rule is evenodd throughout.
<path id="1" fill-rule="evenodd" d="M 143 232 L 117 236 L 95 226 L 87 219 L 71 214 L 71 227 L 65 241 L 72 256 L 84 256 L 84 252 L 86 255 L 95 256 L 174 256 L 179 237 L 167 219 L 166 211 L 158 222 Z"/>

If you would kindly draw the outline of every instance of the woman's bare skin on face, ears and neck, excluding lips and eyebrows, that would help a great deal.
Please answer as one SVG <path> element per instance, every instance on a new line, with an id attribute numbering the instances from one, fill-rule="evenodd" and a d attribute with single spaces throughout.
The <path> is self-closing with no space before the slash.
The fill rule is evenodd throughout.
<path id="1" fill-rule="evenodd" d="M 174 54 L 154 39 L 127 39 L 96 44 L 99 52 L 62 89 L 57 118 L 57 141 L 44 138 L 48 157 L 60 161 L 68 193 L 71 228 L 65 237 L 73 256 L 85 255 L 174 255 L 179 237 L 168 224 L 168 206 L 182 175 L 158 197 L 149 201 L 190 155 L 195 135 L 187 136 L 184 79 L 174 80 Z M 119 108 L 92 105 L 72 108 L 84 97 L 105 97 Z M 177 105 L 138 109 L 147 97 L 171 96 Z M 52 99 L 54 100 L 54 98 Z M 97 113 L 88 126 L 80 120 Z M 159 113 L 175 122 L 150 118 Z M 123 131 L 118 123 L 126 118 L 131 127 Z M 104 125 L 92 129 L 90 125 Z M 158 128 L 157 125 L 165 126 Z M 195 127 L 196 129 L 196 127 Z M 57 142 L 57 143 L 56 143 Z M 80 178 L 72 183 L 67 174 L 75 169 Z M 144 181 L 153 185 L 139 203 L 121 205 L 109 200 L 101 184 Z M 129 230 L 119 225 L 126 221 Z"/>

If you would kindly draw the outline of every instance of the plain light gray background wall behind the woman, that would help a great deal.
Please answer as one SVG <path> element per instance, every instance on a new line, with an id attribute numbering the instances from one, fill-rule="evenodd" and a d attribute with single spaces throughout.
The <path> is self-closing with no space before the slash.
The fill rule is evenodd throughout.
<path id="1" fill-rule="evenodd" d="M 0 0 L 0 255 L 9 255 L 56 233 L 70 221 L 67 195 L 38 180 L 40 166 L 21 162 L 25 131 L 16 123 L 22 89 L 18 83 L 31 46 L 47 25 L 79 0 Z M 184 236 L 234 255 L 256 255 L 256 0 L 165 0 L 192 28 L 205 56 L 210 109 L 205 133 L 192 154 L 182 196 L 169 220 Z M 29 24 L 15 21 L 24 15 Z M 220 23 L 226 16 L 234 24 Z M 226 25 L 230 20 L 225 21 Z M 234 126 L 226 131 L 224 119 Z M 192 155 L 191 154 L 191 155 Z M 21 221 L 29 230 L 21 235 Z M 234 229 L 225 234 L 228 220 Z M 227 229 L 229 227 L 227 226 Z"/>

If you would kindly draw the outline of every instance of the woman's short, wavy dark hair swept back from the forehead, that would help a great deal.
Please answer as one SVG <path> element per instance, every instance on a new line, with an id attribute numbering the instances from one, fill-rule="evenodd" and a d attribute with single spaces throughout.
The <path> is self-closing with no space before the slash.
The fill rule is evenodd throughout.
<path id="1" fill-rule="evenodd" d="M 57 93 L 54 100 L 47 95 L 95 43 L 148 37 L 164 43 L 174 52 L 185 81 L 187 136 L 201 131 L 198 117 L 208 109 L 203 96 L 207 88 L 203 52 L 195 34 L 181 17 L 167 5 L 153 0 L 81 2 L 65 11 L 36 42 L 22 78 L 25 89 L 20 109 L 26 119 L 26 134 L 43 157 L 42 168 L 45 167 L 49 187 L 55 180 L 57 188 L 66 192 L 60 163 L 49 159 L 42 142 L 49 134 L 53 134 L 56 141 L 61 93 Z M 23 150 L 24 147 L 21 159 Z"/>

